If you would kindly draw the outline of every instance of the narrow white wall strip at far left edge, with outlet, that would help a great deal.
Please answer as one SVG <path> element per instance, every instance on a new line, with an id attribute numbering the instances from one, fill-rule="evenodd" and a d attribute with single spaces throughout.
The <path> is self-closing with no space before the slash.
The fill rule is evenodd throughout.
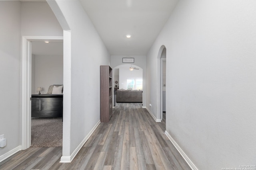
<path id="1" fill-rule="evenodd" d="M 6 138 L 2 155 L 15 150 L 20 138 L 20 2 L 0 1 L 0 135 Z"/>

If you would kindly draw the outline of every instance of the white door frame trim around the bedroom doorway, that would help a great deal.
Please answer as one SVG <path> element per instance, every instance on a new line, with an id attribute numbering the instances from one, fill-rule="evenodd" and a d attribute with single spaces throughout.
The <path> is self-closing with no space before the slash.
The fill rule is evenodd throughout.
<path id="1" fill-rule="evenodd" d="M 62 36 L 22 36 L 21 149 L 31 146 L 31 41 L 63 41 Z"/>

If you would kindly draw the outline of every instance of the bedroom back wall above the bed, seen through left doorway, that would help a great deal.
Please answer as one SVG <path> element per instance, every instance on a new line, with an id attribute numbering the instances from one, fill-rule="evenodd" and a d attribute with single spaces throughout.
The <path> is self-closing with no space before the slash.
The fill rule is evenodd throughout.
<path id="1" fill-rule="evenodd" d="M 34 84 L 32 94 L 38 94 L 37 87 L 42 87 L 41 94 L 46 94 L 50 85 L 63 84 L 63 56 L 35 55 Z"/>

